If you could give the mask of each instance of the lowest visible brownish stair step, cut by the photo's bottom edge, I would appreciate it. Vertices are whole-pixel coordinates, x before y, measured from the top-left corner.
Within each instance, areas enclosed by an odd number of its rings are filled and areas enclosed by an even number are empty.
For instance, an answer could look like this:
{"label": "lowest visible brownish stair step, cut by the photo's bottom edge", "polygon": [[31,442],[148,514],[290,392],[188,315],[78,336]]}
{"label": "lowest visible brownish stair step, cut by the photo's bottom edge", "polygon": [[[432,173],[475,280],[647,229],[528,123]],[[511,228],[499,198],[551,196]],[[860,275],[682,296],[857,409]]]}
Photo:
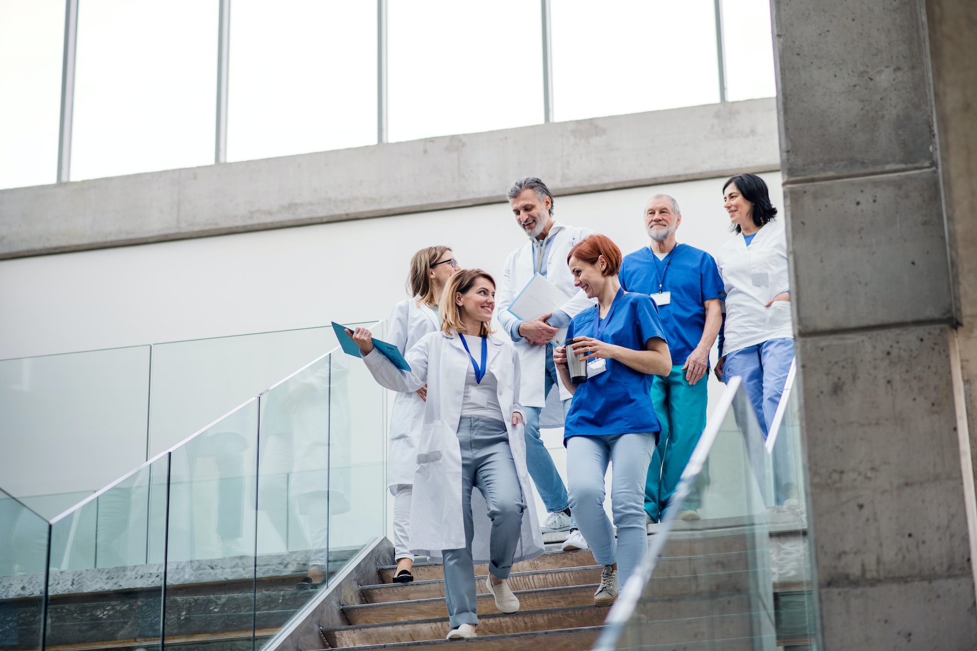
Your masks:
{"label": "lowest visible brownish stair step, cut by the photo's bottom edge", "polygon": [[[482,629],[481,625],[479,629]],[[540,649],[545,649],[545,651],[587,651],[593,648],[601,630],[601,627],[577,627],[559,630],[533,630],[507,635],[488,635],[485,633],[469,639],[446,640],[442,638],[419,642],[370,644],[341,647],[331,651],[379,651],[380,649],[414,651],[414,649],[433,648],[445,649],[445,651],[449,649],[464,649],[464,651],[539,651]],[[479,630],[479,632],[483,631]],[[739,651],[739,649],[735,651]]]}

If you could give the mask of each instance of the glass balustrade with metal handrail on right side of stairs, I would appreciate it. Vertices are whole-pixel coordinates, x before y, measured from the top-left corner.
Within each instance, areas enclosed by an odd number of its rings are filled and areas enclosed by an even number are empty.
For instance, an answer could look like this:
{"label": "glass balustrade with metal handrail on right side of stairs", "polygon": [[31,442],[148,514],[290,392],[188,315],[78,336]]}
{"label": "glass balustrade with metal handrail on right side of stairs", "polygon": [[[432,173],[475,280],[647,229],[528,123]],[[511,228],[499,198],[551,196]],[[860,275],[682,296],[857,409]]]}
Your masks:
{"label": "glass balustrade with metal handrail on right side of stairs", "polygon": [[[800,450],[796,401],[788,388],[771,452]],[[767,456],[734,378],[595,649],[818,648],[804,493],[770,505]],[[790,461],[803,477],[800,457]]]}

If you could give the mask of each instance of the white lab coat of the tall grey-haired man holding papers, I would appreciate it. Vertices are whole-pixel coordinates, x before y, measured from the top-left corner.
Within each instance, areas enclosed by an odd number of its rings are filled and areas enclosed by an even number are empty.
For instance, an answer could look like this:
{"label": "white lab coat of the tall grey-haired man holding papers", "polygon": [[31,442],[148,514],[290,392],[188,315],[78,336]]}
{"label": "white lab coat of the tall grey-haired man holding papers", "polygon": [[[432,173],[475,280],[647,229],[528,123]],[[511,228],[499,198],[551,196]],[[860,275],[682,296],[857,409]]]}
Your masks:
{"label": "white lab coat of the tall grey-haired man holding papers", "polygon": [[[573,318],[576,313],[591,307],[594,301],[587,298],[583,290],[573,286],[573,274],[570,273],[570,267],[567,266],[567,254],[573,248],[573,244],[593,234],[593,231],[564,226],[560,222],[554,221],[550,234],[554,240],[550,245],[549,256],[546,258],[546,279],[567,295],[567,302],[561,309]],[[509,306],[512,305],[513,299],[519,295],[526,283],[530,282],[534,274],[532,241],[527,241],[506,258],[505,268],[502,270],[502,283],[495,296],[495,303],[498,305],[496,316],[499,324],[505,330],[502,333],[503,336],[508,337],[509,327],[518,321],[516,316],[509,312]],[[527,407],[543,407],[546,402],[546,397],[543,395],[546,347],[532,346],[525,338],[515,342],[515,346],[519,352],[519,361],[522,363],[523,370],[520,400]],[[568,400],[572,395],[570,391],[563,385],[563,382],[556,384],[560,389],[560,400]]]}

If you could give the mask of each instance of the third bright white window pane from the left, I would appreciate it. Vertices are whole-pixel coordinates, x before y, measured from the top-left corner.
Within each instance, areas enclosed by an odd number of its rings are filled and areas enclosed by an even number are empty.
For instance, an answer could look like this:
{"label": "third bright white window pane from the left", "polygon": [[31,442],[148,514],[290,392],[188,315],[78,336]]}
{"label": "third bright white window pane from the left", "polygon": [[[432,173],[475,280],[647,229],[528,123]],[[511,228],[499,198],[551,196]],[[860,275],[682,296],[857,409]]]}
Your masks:
{"label": "third bright white window pane from the left", "polygon": [[376,3],[234,0],[228,160],[376,143]]}

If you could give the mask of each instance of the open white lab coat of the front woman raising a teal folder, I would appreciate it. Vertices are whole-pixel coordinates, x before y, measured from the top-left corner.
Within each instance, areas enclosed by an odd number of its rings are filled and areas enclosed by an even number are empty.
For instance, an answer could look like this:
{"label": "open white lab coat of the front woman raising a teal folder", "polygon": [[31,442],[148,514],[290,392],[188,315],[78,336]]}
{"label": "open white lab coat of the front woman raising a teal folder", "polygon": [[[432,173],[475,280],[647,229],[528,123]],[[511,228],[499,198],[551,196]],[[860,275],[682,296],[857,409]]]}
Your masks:
{"label": "open white lab coat of the front woman raising a teal folder", "polygon": [[[458,421],[471,360],[458,335],[444,331],[425,335],[404,357],[410,371],[397,369],[375,349],[363,357],[363,362],[377,382],[393,391],[416,391],[428,385],[424,424],[416,439],[417,471],[413,479],[409,539],[411,552],[440,559],[443,549],[465,546]],[[543,540],[530,473],[526,469],[525,426],[512,424],[513,412],[523,413],[519,404],[519,356],[512,342],[489,335],[487,364],[488,372],[498,381],[498,403],[526,503],[520,542],[513,558],[513,562],[519,562],[541,554]],[[472,555],[475,563],[487,563],[491,521],[485,498],[478,490],[472,491],[472,520],[475,527]]]}

